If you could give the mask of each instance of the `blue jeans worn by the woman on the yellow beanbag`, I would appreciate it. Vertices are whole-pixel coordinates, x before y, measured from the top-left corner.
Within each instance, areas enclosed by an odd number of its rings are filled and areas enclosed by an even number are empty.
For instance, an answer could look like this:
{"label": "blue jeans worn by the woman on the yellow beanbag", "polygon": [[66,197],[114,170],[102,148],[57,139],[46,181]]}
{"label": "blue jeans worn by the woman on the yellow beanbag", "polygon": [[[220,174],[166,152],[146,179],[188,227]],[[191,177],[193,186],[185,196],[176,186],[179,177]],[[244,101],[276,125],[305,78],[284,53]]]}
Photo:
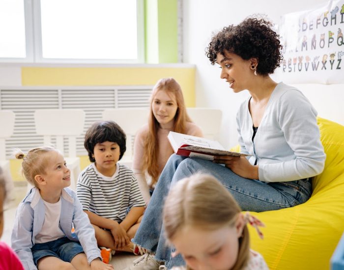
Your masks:
{"label": "blue jeans worn by the woman on the yellow beanbag", "polygon": [[185,263],[180,255],[172,258],[173,247],[166,243],[162,222],[164,199],[176,181],[197,172],[215,176],[231,192],[243,211],[262,212],[292,207],[307,201],[312,193],[309,180],[264,183],[242,178],[229,168],[211,161],[173,154],[160,175],[133,239],[133,243],[154,252],[157,261],[165,261],[168,269]]}

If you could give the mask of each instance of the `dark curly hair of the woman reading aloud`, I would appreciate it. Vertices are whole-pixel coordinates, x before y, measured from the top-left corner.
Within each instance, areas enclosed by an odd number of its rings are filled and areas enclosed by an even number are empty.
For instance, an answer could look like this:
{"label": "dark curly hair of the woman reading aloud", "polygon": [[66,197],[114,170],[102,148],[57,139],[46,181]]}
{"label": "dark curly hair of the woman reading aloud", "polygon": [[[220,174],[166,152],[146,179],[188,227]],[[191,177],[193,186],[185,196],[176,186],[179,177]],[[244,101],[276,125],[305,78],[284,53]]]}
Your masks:
{"label": "dark curly hair of the woman reading aloud", "polygon": [[279,35],[271,29],[272,23],[262,18],[246,18],[237,26],[224,27],[214,35],[205,49],[212,65],[218,53],[225,51],[239,55],[244,60],[258,58],[257,73],[271,74],[283,59]]}

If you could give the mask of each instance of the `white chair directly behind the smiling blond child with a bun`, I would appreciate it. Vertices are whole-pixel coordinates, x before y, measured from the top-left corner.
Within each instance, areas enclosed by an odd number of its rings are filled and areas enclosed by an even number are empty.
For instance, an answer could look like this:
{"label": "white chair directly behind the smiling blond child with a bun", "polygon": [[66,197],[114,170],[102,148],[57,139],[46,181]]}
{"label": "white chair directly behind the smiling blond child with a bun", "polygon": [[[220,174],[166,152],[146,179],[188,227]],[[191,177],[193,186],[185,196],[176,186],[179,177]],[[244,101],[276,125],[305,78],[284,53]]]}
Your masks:
{"label": "white chair directly behind the smiling blond child with a bun", "polygon": [[76,189],[80,173],[80,158],[76,152],[76,137],[84,131],[85,112],[82,109],[37,109],[34,112],[36,133],[44,136],[44,144],[51,144],[52,136],[56,137],[56,148],[64,156],[63,137],[68,138],[68,154],[65,157],[71,171],[71,189]]}

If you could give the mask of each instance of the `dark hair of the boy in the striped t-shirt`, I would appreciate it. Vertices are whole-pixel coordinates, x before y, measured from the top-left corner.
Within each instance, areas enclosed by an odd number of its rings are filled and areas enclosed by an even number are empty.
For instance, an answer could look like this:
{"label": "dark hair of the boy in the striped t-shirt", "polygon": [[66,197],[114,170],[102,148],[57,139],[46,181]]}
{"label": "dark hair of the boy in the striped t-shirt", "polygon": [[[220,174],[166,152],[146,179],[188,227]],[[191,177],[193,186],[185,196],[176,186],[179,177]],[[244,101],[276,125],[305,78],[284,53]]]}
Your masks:
{"label": "dark hair of the boy in the striped t-shirt", "polygon": [[92,157],[94,154],[94,146],[97,143],[104,141],[115,142],[119,146],[119,160],[123,157],[126,148],[125,141],[126,135],[124,131],[114,121],[95,122],[87,130],[85,135],[84,146],[88,152],[88,158],[90,162],[95,162]]}

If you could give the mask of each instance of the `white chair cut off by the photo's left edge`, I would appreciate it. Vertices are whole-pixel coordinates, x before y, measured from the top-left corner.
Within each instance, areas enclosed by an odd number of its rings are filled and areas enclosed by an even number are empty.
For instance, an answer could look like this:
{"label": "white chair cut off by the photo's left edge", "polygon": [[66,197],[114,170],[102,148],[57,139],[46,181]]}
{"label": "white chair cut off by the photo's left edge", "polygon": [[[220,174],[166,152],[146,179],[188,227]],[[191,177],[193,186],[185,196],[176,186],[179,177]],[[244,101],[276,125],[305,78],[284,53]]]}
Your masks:
{"label": "white chair cut off by the photo's left edge", "polygon": [[[14,184],[12,181],[10,163],[6,160],[6,146],[5,139],[13,135],[14,131],[15,114],[11,110],[0,110],[0,167],[2,168],[3,175],[5,177],[5,189],[6,189],[6,205],[4,208],[8,208],[10,203],[14,201]],[[7,205],[8,202],[8,205]]]}

